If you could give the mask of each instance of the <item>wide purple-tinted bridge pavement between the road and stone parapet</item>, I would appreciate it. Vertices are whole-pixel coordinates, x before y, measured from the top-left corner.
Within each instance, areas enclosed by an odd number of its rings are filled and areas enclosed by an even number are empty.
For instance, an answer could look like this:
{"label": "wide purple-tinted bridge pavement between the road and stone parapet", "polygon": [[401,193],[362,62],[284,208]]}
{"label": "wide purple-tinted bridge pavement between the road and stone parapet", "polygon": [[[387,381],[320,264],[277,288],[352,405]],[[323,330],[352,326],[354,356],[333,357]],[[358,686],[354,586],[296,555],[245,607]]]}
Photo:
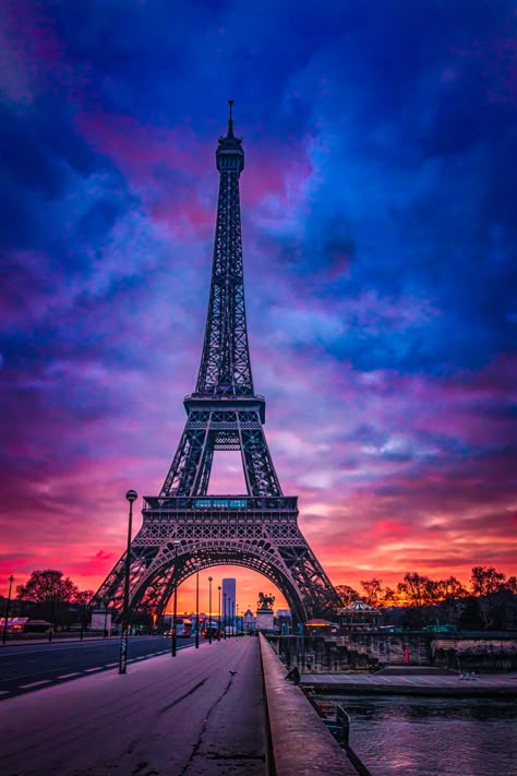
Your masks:
{"label": "wide purple-tinted bridge pavement between the road and stone parapet", "polygon": [[265,775],[257,638],[204,643],[3,701],[5,776]]}

